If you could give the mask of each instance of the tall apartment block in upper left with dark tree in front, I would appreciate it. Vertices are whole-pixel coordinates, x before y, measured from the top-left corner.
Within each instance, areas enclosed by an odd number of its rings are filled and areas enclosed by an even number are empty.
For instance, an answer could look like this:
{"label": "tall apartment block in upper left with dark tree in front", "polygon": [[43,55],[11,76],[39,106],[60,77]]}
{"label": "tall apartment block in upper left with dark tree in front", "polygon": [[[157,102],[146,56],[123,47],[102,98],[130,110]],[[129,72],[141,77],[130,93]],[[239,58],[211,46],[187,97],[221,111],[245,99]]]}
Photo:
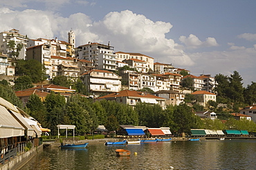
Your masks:
{"label": "tall apartment block in upper left with dark tree in front", "polygon": [[19,34],[19,30],[0,32],[0,52],[12,59],[25,59],[27,43],[27,36]]}

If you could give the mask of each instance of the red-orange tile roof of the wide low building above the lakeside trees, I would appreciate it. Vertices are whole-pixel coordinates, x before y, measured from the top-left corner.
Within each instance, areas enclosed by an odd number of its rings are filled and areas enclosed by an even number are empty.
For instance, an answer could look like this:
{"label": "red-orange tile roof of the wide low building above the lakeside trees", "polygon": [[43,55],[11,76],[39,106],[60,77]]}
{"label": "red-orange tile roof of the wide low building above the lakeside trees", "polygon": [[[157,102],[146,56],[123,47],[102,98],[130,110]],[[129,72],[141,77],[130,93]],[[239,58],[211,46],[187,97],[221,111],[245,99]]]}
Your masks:
{"label": "red-orange tile roof of the wide low building above the lakeside trees", "polygon": [[144,94],[143,92],[131,91],[129,89],[122,90],[113,94],[107,94],[106,96],[101,96],[99,98],[116,98],[116,97],[138,97],[138,98],[156,98],[165,99],[152,94]]}

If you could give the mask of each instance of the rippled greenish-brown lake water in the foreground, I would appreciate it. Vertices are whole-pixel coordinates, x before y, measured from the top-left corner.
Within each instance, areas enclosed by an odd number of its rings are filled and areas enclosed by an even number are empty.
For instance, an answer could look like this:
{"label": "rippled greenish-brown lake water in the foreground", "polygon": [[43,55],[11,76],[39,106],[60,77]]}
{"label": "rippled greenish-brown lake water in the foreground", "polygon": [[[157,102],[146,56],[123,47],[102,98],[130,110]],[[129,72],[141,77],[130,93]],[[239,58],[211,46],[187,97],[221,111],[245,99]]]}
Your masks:
{"label": "rippled greenish-brown lake water in the foreground", "polygon": [[[116,149],[129,157],[117,157]],[[134,153],[137,153],[136,154]],[[203,140],[105,146],[87,149],[46,148],[27,169],[256,169],[256,140]]]}

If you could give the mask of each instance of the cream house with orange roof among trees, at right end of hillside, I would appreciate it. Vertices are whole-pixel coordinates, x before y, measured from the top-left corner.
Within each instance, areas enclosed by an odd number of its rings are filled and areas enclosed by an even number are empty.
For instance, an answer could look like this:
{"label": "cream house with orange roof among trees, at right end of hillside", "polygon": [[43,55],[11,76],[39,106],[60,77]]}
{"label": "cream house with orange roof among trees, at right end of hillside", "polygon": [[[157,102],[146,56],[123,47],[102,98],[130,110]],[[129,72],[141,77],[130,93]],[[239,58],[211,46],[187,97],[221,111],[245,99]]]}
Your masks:
{"label": "cream house with orange roof among trees, at right end of hillside", "polygon": [[202,90],[193,92],[192,94],[196,96],[196,101],[199,103],[199,105],[202,105],[203,107],[206,107],[206,104],[209,100],[216,102],[216,94],[212,94],[211,92],[206,92]]}

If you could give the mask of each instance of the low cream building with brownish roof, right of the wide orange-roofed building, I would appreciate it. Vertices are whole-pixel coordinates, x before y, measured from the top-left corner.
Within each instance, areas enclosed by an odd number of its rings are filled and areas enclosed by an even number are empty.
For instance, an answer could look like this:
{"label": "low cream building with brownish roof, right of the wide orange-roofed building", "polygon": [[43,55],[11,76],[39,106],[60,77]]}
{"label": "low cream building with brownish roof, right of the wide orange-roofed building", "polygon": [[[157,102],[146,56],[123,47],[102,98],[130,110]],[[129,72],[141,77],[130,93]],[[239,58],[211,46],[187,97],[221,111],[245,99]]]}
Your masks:
{"label": "low cream building with brownish roof, right of the wide orange-roofed building", "polygon": [[160,90],[155,94],[158,97],[166,98],[166,105],[179,105],[185,98],[185,94],[173,90]]}

